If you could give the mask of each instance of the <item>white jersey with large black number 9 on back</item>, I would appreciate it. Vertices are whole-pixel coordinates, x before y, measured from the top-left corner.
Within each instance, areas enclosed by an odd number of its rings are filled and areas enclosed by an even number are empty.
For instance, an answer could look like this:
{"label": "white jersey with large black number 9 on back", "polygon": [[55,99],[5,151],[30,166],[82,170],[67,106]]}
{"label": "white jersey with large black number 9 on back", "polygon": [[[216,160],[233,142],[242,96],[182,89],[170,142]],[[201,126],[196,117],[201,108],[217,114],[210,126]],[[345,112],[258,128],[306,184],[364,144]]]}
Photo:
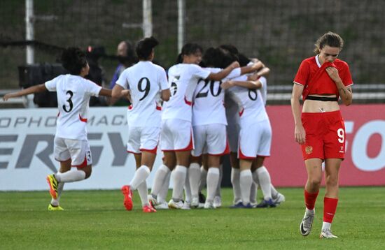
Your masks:
{"label": "white jersey with large black number 9 on back", "polygon": [[129,126],[161,126],[160,91],[169,88],[164,68],[151,61],[139,61],[126,68],[116,84],[130,89],[132,105],[127,110]]}

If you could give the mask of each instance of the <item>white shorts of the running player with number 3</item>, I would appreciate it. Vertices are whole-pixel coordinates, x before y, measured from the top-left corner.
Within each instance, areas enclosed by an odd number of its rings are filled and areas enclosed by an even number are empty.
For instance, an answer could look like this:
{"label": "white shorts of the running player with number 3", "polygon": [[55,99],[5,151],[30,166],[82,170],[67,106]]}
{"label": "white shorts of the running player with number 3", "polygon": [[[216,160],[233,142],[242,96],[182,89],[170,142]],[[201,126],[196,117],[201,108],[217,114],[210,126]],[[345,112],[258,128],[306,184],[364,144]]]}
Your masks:
{"label": "white shorts of the running player with number 3", "polygon": [[71,166],[84,168],[92,165],[90,145],[87,140],[72,140],[55,137],[53,150],[56,161],[68,161]]}

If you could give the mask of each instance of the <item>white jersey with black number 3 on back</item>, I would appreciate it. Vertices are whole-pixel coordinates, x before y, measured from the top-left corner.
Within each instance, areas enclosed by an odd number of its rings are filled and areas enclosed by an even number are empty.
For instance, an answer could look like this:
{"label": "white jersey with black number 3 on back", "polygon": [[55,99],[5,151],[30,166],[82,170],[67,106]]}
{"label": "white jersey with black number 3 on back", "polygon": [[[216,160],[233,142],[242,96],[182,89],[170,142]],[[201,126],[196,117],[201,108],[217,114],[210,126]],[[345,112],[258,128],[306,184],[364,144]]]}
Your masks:
{"label": "white jersey with black number 3 on back", "polygon": [[57,92],[56,136],[72,140],[87,140],[87,114],[91,96],[98,96],[99,85],[80,75],[59,75],[45,87]]}

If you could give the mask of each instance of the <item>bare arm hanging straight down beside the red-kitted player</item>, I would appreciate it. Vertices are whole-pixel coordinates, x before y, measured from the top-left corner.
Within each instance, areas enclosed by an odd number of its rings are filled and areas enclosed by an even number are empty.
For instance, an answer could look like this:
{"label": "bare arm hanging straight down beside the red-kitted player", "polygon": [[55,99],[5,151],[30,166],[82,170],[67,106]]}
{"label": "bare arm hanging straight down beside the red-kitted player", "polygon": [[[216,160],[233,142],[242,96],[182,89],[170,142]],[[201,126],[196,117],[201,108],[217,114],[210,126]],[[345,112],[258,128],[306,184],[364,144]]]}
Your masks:
{"label": "bare arm hanging straight down beside the red-kitted player", "polygon": [[290,98],[291,111],[293,112],[294,124],[295,124],[295,130],[294,130],[295,141],[300,143],[301,145],[304,144],[305,138],[306,138],[306,133],[302,125],[301,110],[300,110],[300,96],[302,95],[303,89],[304,89],[303,85],[295,83],[293,86],[293,91],[291,93],[291,98]]}

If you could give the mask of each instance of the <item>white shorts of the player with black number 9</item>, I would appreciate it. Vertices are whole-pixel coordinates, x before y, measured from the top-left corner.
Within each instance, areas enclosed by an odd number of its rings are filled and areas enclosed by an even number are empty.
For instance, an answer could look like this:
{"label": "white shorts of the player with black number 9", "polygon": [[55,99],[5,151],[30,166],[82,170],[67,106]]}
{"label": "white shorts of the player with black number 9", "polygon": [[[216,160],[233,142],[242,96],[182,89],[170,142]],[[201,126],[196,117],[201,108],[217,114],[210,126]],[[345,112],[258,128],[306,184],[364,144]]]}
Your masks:
{"label": "white shorts of the player with black number 9", "polygon": [[160,128],[155,126],[130,126],[128,128],[127,152],[141,154],[146,151],[156,154]]}

